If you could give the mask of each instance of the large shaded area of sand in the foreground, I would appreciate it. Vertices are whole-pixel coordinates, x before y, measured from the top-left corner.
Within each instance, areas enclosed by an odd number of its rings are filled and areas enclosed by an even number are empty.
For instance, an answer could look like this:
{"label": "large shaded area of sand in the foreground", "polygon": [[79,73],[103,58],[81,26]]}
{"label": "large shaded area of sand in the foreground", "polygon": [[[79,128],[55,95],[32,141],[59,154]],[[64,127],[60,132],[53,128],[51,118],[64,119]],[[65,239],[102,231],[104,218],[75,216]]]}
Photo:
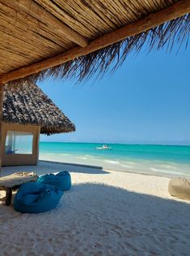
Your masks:
{"label": "large shaded area of sand in the foreground", "polygon": [[[187,202],[89,183],[73,185],[57,208],[44,214],[22,215],[12,206],[0,206],[3,236],[10,241],[14,237],[6,249],[24,249],[37,237],[44,248],[63,248],[65,254],[73,255],[188,256],[189,217]],[[9,232],[9,225],[12,230],[19,227],[16,236]],[[22,242],[20,236],[24,236]],[[40,246],[36,246],[38,253]]]}

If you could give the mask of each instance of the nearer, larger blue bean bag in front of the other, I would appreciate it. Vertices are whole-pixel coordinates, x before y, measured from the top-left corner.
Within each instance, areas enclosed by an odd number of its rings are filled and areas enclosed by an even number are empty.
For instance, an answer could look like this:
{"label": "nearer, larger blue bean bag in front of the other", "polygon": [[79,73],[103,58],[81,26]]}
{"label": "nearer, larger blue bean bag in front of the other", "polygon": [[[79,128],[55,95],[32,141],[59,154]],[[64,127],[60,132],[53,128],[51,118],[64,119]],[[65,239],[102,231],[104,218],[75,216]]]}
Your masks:
{"label": "nearer, larger blue bean bag in front of the other", "polygon": [[16,193],[13,206],[23,213],[40,213],[57,206],[63,192],[61,189],[40,182],[27,182]]}

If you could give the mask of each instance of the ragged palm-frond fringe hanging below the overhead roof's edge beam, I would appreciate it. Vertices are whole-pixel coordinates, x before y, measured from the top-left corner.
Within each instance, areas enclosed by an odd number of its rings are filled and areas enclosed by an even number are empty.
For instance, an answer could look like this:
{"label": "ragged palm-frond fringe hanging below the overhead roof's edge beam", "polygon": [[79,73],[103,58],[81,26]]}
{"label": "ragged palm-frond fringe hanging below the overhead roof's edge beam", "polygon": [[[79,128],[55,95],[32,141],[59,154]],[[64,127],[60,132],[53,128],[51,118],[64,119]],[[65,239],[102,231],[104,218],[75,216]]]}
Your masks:
{"label": "ragged palm-frond fringe hanging below the overhead roof's edge beam", "polygon": [[[190,33],[190,15],[185,15],[178,19],[172,20],[167,24],[160,25],[156,28],[128,37],[123,41],[116,42],[111,46],[101,50],[83,55],[76,59],[70,60],[62,65],[50,67],[42,72],[26,76],[17,80],[18,84],[29,80],[36,83],[37,80],[53,76],[56,78],[76,78],[78,82],[87,80],[91,76],[101,77],[108,70],[115,72],[126,60],[130,53],[138,54],[142,47],[146,50],[172,50],[175,44],[179,45],[178,50],[184,43],[188,46]],[[15,85],[15,81],[9,82],[9,85]]]}

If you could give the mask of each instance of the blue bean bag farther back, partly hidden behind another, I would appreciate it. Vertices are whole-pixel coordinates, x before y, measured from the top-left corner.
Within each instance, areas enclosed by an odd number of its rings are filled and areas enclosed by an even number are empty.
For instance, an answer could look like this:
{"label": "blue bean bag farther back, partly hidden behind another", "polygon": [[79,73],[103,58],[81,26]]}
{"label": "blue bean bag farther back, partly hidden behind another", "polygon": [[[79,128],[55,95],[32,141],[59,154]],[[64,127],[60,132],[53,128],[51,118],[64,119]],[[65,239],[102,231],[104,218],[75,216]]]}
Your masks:
{"label": "blue bean bag farther back, partly hidden behind another", "polygon": [[50,173],[40,176],[37,181],[45,184],[52,184],[63,191],[70,190],[71,187],[71,177],[68,171],[61,171],[57,173],[57,175]]}

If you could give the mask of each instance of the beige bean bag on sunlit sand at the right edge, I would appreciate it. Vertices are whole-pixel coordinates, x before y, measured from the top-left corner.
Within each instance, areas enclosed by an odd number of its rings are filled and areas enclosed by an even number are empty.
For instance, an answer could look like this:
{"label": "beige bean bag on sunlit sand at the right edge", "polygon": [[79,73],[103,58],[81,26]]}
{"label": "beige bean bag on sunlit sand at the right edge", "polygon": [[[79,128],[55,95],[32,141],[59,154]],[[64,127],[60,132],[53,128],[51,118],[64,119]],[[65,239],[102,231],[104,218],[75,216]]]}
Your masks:
{"label": "beige bean bag on sunlit sand at the right edge", "polygon": [[168,184],[168,192],[173,197],[190,200],[190,180],[185,178],[172,178]]}

